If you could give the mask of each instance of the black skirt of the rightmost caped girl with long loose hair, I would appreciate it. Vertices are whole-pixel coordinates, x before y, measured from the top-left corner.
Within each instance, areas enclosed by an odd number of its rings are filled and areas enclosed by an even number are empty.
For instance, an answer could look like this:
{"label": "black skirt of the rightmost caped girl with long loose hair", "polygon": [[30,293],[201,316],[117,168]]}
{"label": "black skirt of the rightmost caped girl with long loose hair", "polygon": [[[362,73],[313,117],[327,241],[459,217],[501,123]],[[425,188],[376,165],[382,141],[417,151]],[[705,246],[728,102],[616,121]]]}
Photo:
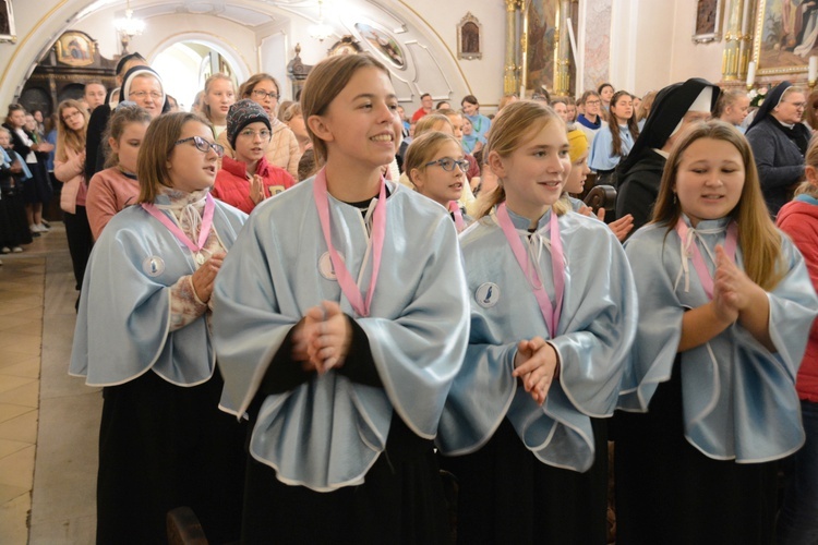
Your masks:
{"label": "black skirt of the rightmost caped girl with long loose hair", "polygon": [[771,544],[778,462],[713,460],[684,436],[679,359],[645,414],[615,416],[616,543]]}

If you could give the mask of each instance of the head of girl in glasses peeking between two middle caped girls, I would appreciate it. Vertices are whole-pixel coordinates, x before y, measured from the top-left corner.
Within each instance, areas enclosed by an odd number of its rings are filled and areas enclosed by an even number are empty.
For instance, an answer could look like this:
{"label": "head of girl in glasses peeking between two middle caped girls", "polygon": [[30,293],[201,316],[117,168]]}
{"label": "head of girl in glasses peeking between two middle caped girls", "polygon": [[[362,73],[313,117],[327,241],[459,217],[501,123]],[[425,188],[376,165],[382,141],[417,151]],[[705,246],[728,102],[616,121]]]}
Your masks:
{"label": "head of girl in glasses peeking between two middle caped girls", "polygon": [[456,137],[437,131],[422,134],[407,149],[404,169],[418,193],[449,211],[458,232],[466,229],[471,218],[459,201],[468,184],[469,161]]}

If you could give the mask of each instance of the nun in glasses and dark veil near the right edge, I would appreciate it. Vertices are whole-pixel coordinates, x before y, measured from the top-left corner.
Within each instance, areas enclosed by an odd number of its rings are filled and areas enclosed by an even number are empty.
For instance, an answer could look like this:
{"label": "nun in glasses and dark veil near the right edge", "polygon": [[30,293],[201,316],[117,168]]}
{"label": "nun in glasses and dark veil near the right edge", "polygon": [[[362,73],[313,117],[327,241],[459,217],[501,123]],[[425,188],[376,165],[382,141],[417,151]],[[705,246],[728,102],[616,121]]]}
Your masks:
{"label": "nun in glasses and dark veil near the right edge", "polygon": [[747,129],[767,208],[774,218],[804,178],[810,132],[801,122],[807,99],[801,87],[782,82],[765,99]]}

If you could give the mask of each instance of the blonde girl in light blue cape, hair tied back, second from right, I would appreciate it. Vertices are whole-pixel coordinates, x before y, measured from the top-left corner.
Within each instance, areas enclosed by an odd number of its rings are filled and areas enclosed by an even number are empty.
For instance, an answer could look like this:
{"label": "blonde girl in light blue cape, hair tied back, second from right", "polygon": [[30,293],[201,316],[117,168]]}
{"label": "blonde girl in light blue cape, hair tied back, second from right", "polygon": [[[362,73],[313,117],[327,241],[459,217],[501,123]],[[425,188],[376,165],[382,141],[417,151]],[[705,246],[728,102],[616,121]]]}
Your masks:
{"label": "blonde girl in light blue cape, hair tied back, second from right", "polygon": [[570,158],[551,108],[506,106],[486,150],[500,186],[460,235],[471,332],[438,436],[458,541],[604,543],[603,419],[636,331],[630,268],[604,223],[560,198]]}

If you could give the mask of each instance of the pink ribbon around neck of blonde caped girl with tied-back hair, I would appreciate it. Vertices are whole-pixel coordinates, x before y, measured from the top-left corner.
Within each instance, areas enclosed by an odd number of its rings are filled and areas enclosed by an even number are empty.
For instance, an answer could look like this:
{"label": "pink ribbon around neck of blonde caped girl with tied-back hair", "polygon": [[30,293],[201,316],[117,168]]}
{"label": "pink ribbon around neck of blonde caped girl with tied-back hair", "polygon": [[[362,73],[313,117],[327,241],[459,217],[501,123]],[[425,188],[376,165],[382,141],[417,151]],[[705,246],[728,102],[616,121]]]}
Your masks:
{"label": "pink ribbon around neck of blonde caped girl with tied-back hair", "polygon": [[556,337],[556,328],[560,325],[560,314],[563,308],[563,293],[565,292],[565,255],[563,253],[563,242],[560,240],[560,225],[557,222],[556,213],[551,210],[551,268],[554,275],[554,300],[556,306],[552,306],[551,299],[549,298],[545,288],[542,284],[542,279],[537,272],[537,269],[531,266],[531,262],[528,258],[528,252],[526,251],[520,235],[515,229],[512,218],[508,217],[508,210],[506,204],[502,203],[497,206],[497,221],[500,227],[503,228],[503,233],[506,235],[508,244],[512,246],[512,252],[517,258],[517,263],[520,265],[522,272],[528,279],[528,283],[531,286],[531,290],[534,292],[534,298],[540,304],[540,311],[542,317],[545,318],[545,325],[549,327],[551,338]]}

